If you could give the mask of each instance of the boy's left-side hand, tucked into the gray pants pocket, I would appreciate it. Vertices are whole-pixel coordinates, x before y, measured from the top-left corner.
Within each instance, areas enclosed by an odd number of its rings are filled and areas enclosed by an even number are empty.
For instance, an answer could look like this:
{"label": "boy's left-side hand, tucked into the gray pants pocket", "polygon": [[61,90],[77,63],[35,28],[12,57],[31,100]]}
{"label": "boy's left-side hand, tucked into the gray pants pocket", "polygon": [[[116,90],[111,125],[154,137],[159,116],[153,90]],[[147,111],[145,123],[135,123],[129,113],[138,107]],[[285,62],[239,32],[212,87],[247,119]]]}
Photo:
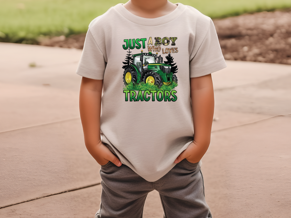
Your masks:
{"label": "boy's left-side hand, tucked into the gray pants pocket", "polygon": [[111,161],[116,166],[121,166],[120,160],[102,143],[102,141],[94,147],[90,146],[88,151],[100,165],[105,165]]}

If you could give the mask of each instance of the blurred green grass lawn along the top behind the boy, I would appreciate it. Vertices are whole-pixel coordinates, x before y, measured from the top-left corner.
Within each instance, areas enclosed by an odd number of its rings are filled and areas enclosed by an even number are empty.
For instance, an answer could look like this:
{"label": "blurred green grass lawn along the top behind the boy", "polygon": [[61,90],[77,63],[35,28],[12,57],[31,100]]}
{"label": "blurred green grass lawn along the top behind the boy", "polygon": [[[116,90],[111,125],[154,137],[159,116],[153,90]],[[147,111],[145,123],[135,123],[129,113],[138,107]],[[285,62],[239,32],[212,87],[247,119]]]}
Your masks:
{"label": "blurred green grass lawn along the top behind the boy", "polygon": [[[40,35],[84,33],[118,0],[0,0],[0,41],[36,43]],[[172,1],[175,3],[175,1]],[[211,18],[291,8],[291,0],[181,0]]]}

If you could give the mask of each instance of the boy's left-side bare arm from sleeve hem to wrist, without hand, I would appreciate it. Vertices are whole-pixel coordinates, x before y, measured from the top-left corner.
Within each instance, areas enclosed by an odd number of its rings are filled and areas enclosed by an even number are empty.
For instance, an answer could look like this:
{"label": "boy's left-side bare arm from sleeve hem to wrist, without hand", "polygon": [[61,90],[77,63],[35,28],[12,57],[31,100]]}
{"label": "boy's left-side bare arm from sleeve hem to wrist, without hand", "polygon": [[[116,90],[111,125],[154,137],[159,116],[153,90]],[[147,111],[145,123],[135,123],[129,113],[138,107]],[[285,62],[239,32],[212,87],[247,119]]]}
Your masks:
{"label": "boy's left-side bare arm from sleeve hem to wrist, without hand", "polygon": [[94,83],[92,83],[88,78],[82,78],[79,109],[85,145],[89,152],[91,146],[101,143],[100,113],[102,86],[103,80],[94,81]]}

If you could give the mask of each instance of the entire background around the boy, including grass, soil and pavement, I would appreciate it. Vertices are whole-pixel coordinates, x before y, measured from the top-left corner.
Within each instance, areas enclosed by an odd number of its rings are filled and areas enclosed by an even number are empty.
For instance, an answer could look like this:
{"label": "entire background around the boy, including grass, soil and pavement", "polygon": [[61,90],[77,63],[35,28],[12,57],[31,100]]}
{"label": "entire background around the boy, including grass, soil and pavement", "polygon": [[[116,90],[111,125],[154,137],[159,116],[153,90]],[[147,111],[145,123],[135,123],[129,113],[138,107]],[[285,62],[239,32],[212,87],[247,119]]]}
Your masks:
{"label": "entire background around the boy, including grass, soil and pavement", "polygon": [[[228,65],[212,74],[201,168],[213,217],[290,217],[291,1],[180,2],[213,19]],[[118,3],[0,0],[0,218],[99,209],[100,165],[84,145],[75,72],[89,23]],[[157,192],[143,217],[163,217]]]}

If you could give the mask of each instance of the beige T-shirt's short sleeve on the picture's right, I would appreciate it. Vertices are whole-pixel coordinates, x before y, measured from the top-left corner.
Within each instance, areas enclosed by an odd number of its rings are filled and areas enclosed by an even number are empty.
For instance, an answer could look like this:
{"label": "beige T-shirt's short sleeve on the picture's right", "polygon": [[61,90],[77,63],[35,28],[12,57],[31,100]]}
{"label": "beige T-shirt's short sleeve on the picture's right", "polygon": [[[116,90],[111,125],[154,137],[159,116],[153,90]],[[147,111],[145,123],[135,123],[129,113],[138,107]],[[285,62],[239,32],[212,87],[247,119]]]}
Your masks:
{"label": "beige T-shirt's short sleeve on the picture's right", "polygon": [[225,67],[227,65],[221,52],[217,33],[210,19],[210,26],[202,43],[194,42],[189,63],[190,77],[204,76]]}

